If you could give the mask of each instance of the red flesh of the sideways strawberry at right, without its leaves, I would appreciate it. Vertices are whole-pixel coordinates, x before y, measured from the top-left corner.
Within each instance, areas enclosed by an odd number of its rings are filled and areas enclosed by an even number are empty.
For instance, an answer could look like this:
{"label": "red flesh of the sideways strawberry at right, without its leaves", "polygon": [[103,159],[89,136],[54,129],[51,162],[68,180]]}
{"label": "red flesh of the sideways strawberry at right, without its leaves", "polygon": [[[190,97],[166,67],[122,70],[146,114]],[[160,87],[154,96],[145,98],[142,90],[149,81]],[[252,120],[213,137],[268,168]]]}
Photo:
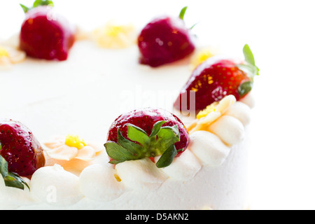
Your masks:
{"label": "red flesh of the sideways strawberry at right, without its leaves", "polygon": [[[202,69],[200,69],[202,68]],[[195,92],[196,112],[205,109],[214,102],[218,102],[226,95],[232,94],[239,100],[238,87],[241,83],[250,80],[244,71],[241,71],[235,62],[222,59],[214,64],[204,62],[193,71],[188,82],[181,90],[174,106],[178,110],[190,109],[194,102],[190,102],[190,91]],[[183,97],[185,94],[185,97]],[[186,99],[181,102],[182,98]]]}

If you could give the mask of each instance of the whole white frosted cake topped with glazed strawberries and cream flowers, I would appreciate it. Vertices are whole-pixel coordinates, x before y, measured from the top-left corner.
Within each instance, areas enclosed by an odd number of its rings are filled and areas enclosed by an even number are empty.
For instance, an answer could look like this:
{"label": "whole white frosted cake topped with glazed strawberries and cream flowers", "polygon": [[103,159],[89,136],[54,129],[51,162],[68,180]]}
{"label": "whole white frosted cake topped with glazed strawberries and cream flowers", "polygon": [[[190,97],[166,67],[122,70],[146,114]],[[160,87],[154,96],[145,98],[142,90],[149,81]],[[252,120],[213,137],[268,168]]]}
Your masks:
{"label": "whole white frosted cake topped with glazed strawberries and cream flowers", "polygon": [[[48,7],[24,6],[25,23]],[[183,28],[185,10],[179,22],[158,18],[141,32],[109,22],[85,33],[67,24],[62,54],[30,53],[29,27],[0,44],[0,209],[248,209],[248,73],[258,69],[248,45],[245,62],[200,54]],[[154,41],[173,46],[173,57],[144,49],[155,26],[182,31],[185,50],[176,39],[163,42],[167,31]],[[215,99],[205,102],[200,74],[230,62],[239,63],[228,66],[233,77],[245,78],[230,92],[214,87]],[[207,77],[211,87],[216,73]],[[36,161],[23,167],[30,155]]]}

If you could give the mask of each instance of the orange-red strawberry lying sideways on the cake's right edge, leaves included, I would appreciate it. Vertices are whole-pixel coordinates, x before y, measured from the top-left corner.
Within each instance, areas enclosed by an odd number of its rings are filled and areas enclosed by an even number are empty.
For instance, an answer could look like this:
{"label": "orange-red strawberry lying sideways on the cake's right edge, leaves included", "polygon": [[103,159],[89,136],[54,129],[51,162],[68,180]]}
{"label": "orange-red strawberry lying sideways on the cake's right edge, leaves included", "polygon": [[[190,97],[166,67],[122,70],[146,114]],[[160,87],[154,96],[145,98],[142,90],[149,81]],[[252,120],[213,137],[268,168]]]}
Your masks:
{"label": "orange-red strawberry lying sideways on the cake's right edge, leaves included", "polygon": [[[231,59],[211,57],[193,71],[188,83],[176,99],[175,108],[186,111],[195,108],[195,112],[205,109],[232,94],[237,100],[251,91],[253,76],[258,75],[253,53],[248,45],[243,49],[245,62],[237,63]],[[195,97],[190,96],[194,93]],[[194,99],[195,102],[190,102]]]}

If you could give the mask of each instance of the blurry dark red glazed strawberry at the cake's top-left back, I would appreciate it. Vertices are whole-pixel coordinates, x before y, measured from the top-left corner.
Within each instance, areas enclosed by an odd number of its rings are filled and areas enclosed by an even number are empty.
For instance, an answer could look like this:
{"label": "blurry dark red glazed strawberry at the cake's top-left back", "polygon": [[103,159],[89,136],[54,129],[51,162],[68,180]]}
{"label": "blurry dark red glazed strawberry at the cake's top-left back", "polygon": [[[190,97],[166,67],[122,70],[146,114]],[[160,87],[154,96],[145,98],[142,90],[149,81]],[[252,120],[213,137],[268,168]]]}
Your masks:
{"label": "blurry dark red glazed strawberry at the cake's top-left back", "polygon": [[63,61],[75,41],[75,29],[52,6],[52,1],[45,0],[35,1],[33,8],[22,6],[26,14],[20,31],[20,49],[29,57]]}

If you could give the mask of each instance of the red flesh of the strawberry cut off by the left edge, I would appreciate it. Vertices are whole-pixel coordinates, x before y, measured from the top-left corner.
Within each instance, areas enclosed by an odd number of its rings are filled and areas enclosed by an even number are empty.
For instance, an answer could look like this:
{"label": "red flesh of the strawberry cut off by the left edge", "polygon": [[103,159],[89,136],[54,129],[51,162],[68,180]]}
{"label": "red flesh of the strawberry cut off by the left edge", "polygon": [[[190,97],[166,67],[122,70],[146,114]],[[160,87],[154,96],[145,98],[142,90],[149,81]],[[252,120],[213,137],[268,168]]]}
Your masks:
{"label": "red flesh of the strawberry cut off by the left edge", "polygon": [[41,145],[22,123],[0,121],[0,144],[0,155],[8,162],[9,172],[30,176],[45,165]]}

